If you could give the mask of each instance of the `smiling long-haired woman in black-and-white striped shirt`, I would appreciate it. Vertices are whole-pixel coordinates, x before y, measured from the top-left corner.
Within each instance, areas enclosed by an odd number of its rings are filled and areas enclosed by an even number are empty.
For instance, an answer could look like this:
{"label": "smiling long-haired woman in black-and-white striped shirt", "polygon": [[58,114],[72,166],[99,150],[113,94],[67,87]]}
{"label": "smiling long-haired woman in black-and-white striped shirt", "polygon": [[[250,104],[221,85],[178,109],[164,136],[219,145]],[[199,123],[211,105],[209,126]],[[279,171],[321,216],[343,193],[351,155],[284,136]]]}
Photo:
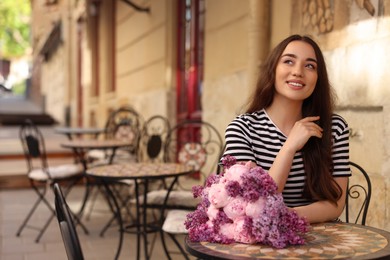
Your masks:
{"label": "smiling long-haired woman in black-and-white striped shirt", "polygon": [[271,52],[246,113],[225,133],[225,155],[267,170],[286,205],[310,223],[340,216],[351,175],[348,125],[333,107],[319,46],[292,35]]}

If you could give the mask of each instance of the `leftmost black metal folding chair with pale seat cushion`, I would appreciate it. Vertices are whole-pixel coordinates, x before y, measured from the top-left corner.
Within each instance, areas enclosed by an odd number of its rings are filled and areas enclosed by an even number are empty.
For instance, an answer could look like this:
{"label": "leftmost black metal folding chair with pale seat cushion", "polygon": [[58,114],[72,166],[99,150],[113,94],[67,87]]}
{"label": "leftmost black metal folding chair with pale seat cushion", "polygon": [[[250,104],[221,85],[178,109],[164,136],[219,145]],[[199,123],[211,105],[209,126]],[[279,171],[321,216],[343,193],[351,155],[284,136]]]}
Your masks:
{"label": "leftmost black metal folding chair with pale seat cushion", "polygon": [[[31,120],[26,120],[21,126],[19,136],[28,167],[27,177],[30,181],[31,188],[38,195],[38,198],[19,227],[16,235],[20,236],[25,227],[39,229],[36,225],[29,225],[29,222],[38,206],[43,203],[50,210],[50,214],[46,223],[40,228],[40,232],[35,240],[39,242],[55,216],[54,208],[46,198],[48,188],[52,188],[55,182],[60,182],[66,185],[65,194],[68,194],[71,188],[84,178],[84,168],[81,164],[49,166],[45,140],[39,128]],[[87,229],[83,225],[81,226],[88,233]]]}

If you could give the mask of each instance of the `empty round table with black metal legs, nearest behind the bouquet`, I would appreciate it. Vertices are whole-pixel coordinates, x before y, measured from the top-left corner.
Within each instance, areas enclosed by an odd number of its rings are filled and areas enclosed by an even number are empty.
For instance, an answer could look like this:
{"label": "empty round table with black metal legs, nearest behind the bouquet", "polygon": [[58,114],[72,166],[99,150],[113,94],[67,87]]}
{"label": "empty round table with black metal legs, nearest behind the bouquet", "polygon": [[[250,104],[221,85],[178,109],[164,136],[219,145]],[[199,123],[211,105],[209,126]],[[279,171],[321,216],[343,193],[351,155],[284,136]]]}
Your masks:
{"label": "empty round table with black metal legs, nearest behind the bouquet", "polygon": [[[164,210],[161,210],[160,212],[161,215],[158,223],[148,222],[147,214],[144,213],[146,213],[147,210],[149,182],[152,180],[172,178],[167,193],[167,196],[169,196],[169,192],[176,183],[177,178],[191,173],[193,173],[192,167],[178,163],[121,163],[93,167],[87,170],[88,176],[96,178],[104,183],[107,193],[115,205],[115,216],[120,226],[119,244],[115,259],[119,258],[124,233],[135,233],[137,235],[137,259],[141,259],[141,244],[144,249],[144,256],[142,259],[150,258],[147,235],[148,233],[159,232],[161,230]],[[133,180],[135,184],[134,197],[136,199],[136,219],[135,223],[130,226],[124,226],[121,215],[121,205],[119,205],[110,185],[113,181],[118,182],[121,180]],[[142,185],[142,189],[140,185]],[[141,195],[143,195],[142,203],[139,201]],[[141,239],[143,241],[141,241]]]}

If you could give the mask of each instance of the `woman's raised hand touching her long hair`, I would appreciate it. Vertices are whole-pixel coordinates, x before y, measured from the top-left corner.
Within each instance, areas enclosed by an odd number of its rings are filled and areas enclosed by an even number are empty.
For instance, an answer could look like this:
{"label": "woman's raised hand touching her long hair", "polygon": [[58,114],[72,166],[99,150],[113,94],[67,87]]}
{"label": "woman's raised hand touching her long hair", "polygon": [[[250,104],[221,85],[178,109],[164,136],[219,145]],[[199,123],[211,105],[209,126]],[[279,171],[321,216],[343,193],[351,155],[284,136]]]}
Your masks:
{"label": "woman's raised hand touching her long hair", "polygon": [[285,148],[296,152],[303,148],[310,137],[322,138],[323,130],[315,123],[319,119],[319,116],[309,116],[295,122],[284,144]]}

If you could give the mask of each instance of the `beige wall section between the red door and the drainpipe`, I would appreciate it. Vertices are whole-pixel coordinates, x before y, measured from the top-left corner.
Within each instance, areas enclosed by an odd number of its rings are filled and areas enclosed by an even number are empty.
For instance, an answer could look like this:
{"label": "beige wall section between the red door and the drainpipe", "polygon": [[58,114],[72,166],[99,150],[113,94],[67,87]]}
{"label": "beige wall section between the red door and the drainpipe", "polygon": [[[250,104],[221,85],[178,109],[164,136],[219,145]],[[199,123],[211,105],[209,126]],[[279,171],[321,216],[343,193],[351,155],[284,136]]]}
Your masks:
{"label": "beige wall section between the red door and the drainpipe", "polygon": [[206,2],[203,119],[221,133],[248,94],[249,2]]}

